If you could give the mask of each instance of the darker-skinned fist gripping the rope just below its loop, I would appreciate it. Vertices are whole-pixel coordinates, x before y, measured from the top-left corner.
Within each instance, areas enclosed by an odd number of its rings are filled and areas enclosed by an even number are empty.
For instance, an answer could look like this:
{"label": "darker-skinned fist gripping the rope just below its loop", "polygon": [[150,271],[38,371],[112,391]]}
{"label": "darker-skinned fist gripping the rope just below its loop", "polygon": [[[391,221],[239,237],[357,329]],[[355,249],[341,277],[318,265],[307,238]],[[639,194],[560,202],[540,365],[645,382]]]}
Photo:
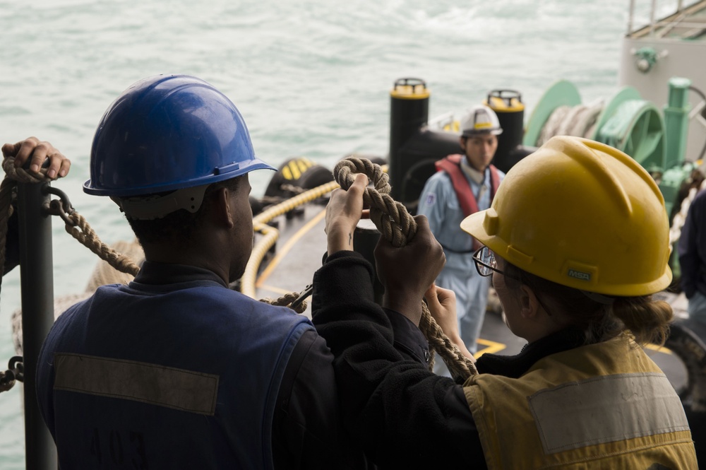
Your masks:
{"label": "darker-skinned fist gripping the rope just below its loop", "polygon": [[380,237],[375,247],[378,279],[385,286],[383,306],[419,326],[424,293],[441,272],[446,258],[426,216],[417,216],[417,233],[404,247]]}

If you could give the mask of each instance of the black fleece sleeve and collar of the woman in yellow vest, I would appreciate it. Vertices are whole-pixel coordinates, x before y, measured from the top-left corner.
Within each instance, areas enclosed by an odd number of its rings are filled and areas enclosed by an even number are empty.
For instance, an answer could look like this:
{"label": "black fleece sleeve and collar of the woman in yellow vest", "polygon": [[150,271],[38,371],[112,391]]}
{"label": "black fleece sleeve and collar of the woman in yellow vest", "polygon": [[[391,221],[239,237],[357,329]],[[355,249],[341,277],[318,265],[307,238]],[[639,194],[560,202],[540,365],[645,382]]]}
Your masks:
{"label": "black fleece sleeve and collar of the woman in yellow vest", "polygon": [[[314,274],[313,323],[335,356],[347,430],[382,468],[487,468],[463,387],[429,372],[421,331],[376,305],[372,279],[371,264],[355,252],[333,254]],[[516,356],[485,354],[476,366],[517,378],[583,341],[580,329],[568,328]]]}

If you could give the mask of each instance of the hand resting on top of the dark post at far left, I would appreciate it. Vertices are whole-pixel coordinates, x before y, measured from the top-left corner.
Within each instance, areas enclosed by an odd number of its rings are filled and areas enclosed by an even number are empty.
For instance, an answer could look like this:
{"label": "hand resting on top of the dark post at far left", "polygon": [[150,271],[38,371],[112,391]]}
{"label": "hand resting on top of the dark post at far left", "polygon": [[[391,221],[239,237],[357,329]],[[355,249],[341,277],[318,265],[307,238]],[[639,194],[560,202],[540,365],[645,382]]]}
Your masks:
{"label": "hand resting on top of the dark post at far left", "polygon": [[71,161],[68,160],[51,143],[40,141],[36,137],[29,137],[18,143],[6,143],[2,146],[4,158],[15,158],[15,168],[20,168],[27,160],[30,160],[30,171],[40,173],[44,160],[49,159],[47,167],[47,177],[50,180],[68,175],[71,168]]}

